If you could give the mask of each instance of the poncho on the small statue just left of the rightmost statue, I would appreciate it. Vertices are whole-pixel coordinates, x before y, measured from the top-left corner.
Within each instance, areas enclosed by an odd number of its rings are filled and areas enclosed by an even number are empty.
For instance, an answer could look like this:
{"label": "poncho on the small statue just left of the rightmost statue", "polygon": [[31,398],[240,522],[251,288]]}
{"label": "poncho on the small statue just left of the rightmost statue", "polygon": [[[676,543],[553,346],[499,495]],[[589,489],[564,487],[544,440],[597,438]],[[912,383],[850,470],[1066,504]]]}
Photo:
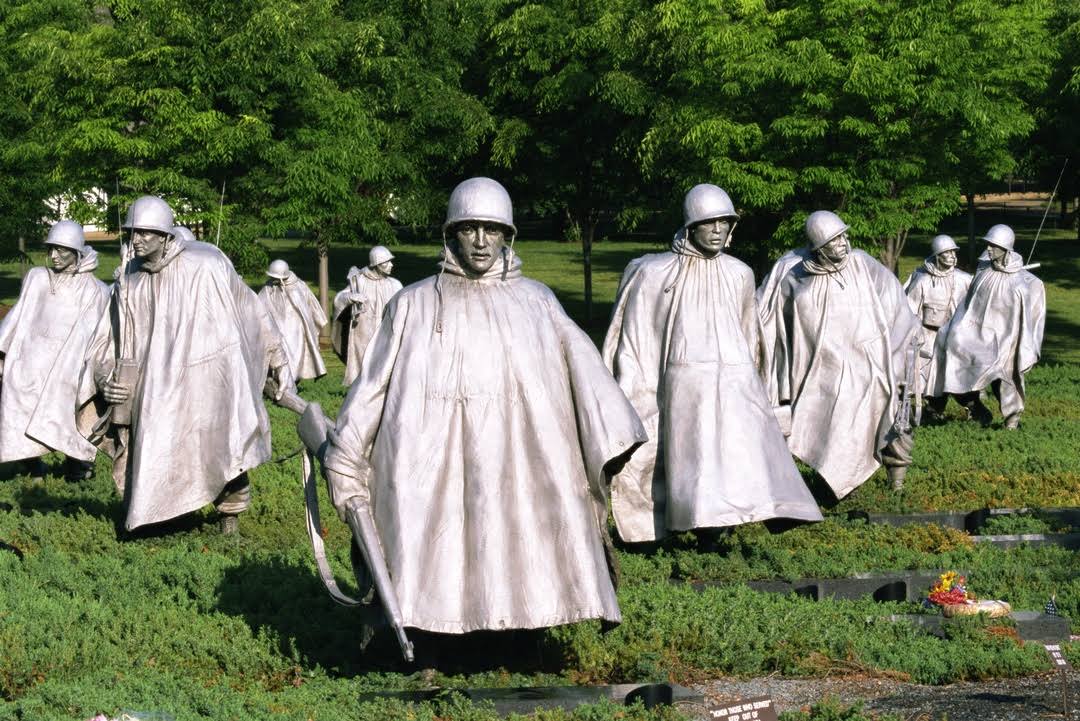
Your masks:
{"label": "poncho on the small statue just left of the rightmost statue", "polygon": [[957,268],[941,270],[933,256],[927,258],[921,268],[915,269],[904,284],[912,312],[922,322],[919,367],[924,395],[932,395],[937,382],[937,364],[934,362],[937,331],[953,317],[970,285],[971,273]]}

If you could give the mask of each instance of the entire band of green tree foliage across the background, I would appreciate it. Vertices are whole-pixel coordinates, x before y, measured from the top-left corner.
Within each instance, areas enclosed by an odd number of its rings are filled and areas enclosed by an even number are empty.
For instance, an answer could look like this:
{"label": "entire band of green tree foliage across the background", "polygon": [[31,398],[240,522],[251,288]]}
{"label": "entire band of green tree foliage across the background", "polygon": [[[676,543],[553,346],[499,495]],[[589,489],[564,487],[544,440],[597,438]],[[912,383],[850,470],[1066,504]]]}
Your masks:
{"label": "entire band of green tree foliage across the background", "polygon": [[1017,162],[1075,155],[1078,27],[1066,0],[12,0],[2,242],[51,198],[113,223],[152,192],[254,264],[260,235],[428,227],[487,173],[584,243],[712,181],[747,253],[825,207],[893,263]]}

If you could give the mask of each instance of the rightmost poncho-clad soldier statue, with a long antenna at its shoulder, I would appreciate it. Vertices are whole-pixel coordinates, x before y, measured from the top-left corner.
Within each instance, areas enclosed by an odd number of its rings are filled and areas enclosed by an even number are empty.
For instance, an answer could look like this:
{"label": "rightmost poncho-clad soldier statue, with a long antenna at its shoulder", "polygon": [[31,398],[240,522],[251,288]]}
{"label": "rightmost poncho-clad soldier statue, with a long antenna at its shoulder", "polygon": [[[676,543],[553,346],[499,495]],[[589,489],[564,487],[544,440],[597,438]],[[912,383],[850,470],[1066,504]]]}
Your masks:
{"label": "rightmost poncho-clad soldier statue, with a long antenna at its shoulder", "polygon": [[[937,339],[937,393],[977,394],[989,387],[1001,404],[1004,427],[1020,426],[1024,412],[1024,376],[1039,359],[1047,323],[1042,281],[1025,270],[1013,250],[1008,226],[994,226],[983,237],[985,260],[978,263],[968,296]],[[989,410],[972,397],[975,419],[988,423]]]}

